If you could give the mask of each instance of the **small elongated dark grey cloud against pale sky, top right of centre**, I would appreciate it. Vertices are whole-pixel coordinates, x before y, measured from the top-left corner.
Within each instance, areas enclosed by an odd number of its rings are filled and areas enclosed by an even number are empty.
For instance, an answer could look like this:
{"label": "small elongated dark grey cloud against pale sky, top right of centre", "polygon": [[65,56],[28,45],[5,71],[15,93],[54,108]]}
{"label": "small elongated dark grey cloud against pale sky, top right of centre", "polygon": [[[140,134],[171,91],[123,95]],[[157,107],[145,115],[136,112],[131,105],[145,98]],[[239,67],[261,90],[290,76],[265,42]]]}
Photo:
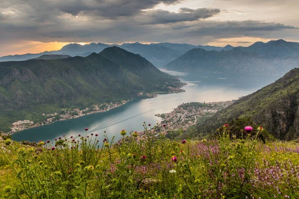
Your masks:
{"label": "small elongated dark grey cloud against pale sky, top right of centre", "polygon": [[[180,21],[195,21],[197,19],[209,18],[218,14],[220,9],[198,8],[190,9],[182,7],[179,12],[169,12],[166,10],[151,10],[146,12],[146,20],[151,24],[165,24]],[[146,21],[145,20],[145,21]],[[146,22],[147,23],[147,22]]]}

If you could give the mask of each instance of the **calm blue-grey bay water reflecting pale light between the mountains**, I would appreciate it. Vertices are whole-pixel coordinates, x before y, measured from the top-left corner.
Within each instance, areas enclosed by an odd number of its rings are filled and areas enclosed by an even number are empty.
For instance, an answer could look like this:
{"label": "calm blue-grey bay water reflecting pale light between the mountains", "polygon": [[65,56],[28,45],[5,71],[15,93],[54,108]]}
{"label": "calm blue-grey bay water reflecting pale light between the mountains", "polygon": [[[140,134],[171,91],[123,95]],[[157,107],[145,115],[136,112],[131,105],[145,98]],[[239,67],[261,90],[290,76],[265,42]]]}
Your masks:
{"label": "calm blue-grey bay water reflecting pale light between the mountains", "polygon": [[279,76],[254,76],[254,75],[230,75],[214,73],[181,73],[166,71],[171,75],[180,76],[186,92],[179,94],[159,95],[156,98],[145,100],[132,100],[127,104],[111,109],[107,112],[99,112],[82,116],[76,119],[56,122],[50,125],[31,128],[14,133],[12,139],[21,141],[53,141],[55,138],[78,136],[85,133],[88,127],[89,133],[98,133],[100,136],[107,131],[109,137],[120,137],[120,131],[143,130],[143,122],[155,124],[160,121],[157,113],[170,112],[179,104],[197,101],[226,101],[251,94],[276,80]]}

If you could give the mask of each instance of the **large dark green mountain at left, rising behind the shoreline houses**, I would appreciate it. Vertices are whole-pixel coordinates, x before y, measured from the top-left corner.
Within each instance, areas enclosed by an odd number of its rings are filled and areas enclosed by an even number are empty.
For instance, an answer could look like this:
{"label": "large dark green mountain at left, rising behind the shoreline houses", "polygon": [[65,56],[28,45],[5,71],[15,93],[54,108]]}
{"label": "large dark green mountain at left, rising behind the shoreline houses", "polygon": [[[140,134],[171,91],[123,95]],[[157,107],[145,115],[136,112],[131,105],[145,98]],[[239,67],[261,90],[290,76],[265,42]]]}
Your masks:
{"label": "large dark green mountain at left, rising behind the shoreline houses", "polygon": [[128,100],[180,87],[140,55],[109,47],[88,57],[0,63],[0,130],[42,113]]}

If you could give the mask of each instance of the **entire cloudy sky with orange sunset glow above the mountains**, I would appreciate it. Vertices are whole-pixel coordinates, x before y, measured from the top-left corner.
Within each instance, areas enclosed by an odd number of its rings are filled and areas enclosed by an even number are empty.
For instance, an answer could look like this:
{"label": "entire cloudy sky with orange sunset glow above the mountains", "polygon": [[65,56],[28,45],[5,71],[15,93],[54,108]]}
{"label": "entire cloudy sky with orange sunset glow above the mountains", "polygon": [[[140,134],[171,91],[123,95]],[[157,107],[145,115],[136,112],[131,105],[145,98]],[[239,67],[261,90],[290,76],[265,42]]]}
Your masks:
{"label": "entire cloudy sky with orange sunset glow above the mountains", "polygon": [[0,56],[69,43],[299,42],[299,0],[0,0]]}

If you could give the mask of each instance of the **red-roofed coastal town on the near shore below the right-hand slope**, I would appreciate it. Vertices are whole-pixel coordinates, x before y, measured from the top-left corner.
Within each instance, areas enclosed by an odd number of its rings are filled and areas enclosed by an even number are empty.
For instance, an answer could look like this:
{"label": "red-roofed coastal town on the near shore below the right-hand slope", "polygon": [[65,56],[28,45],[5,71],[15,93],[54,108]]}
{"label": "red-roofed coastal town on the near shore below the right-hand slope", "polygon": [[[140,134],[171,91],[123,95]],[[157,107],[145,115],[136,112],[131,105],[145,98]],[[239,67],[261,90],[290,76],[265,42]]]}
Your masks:
{"label": "red-roofed coastal town on the near shore below the right-hand slope", "polygon": [[220,102],[190,102],[183,103],[169,113],[156,114],[162,118],[162,124],[165,124],[167,130],[177,130],[182,128],[186,130],[189,126],[194,125],[199,119],[205,119],[215,114],[218,110],[229,106],[236,100]]}

